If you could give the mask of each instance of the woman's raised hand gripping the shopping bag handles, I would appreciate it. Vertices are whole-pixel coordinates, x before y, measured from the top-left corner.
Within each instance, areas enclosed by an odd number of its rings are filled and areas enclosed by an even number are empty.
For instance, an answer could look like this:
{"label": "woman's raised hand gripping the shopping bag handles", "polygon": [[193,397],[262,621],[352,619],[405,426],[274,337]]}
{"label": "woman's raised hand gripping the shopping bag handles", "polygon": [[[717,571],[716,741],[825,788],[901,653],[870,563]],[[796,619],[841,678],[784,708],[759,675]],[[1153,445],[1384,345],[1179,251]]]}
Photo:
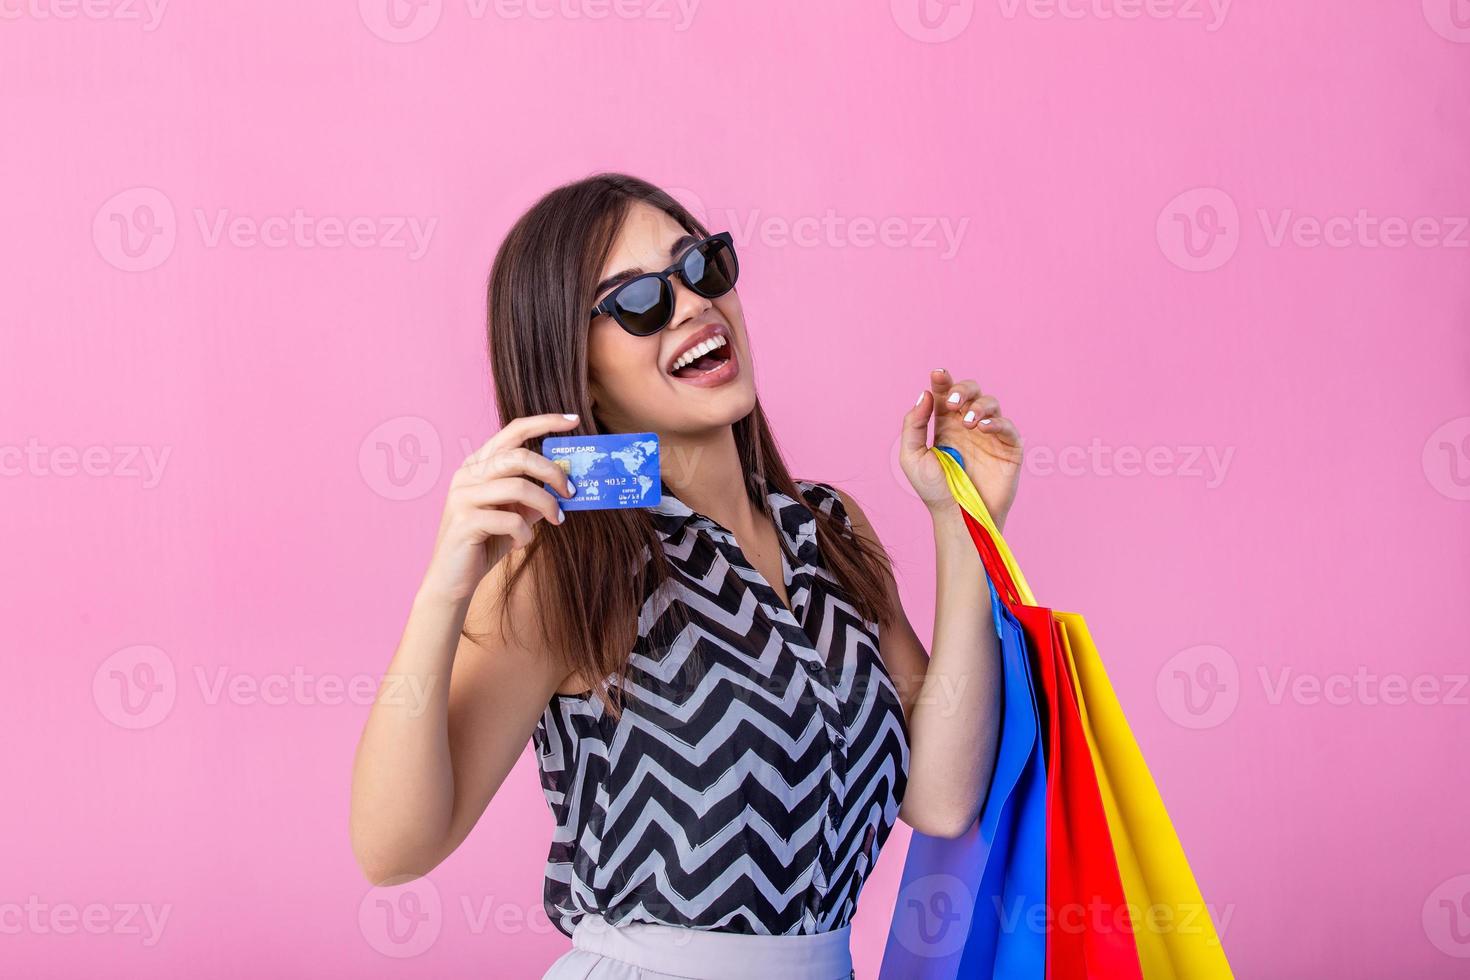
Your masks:
{"label": "woman's raised hand gripping the shopping bag handles", "polygon": [[[936,408],[938,406],[938,408]],[[954,381],[939,367],[929,372],[929,388],[904,416],[900,464],[931,511],[954,507],[939,460],[929,450],[929,416],[933,413],[933,445],[953,447],[964,457],[964,472],[980,492],[997,527],[1016,501],[1020,482],[1022,439],[1016,425],[1001,414],[995,395],[979,382]]]}

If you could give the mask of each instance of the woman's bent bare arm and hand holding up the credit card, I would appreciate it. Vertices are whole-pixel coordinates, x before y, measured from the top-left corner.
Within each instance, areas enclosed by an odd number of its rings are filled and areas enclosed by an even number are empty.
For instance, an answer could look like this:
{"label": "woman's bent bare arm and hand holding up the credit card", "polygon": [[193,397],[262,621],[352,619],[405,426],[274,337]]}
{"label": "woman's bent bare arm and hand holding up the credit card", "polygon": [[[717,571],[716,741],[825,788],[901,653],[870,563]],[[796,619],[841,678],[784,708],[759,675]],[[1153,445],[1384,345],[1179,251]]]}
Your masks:
{"label": "woman's bent bare arm and hand holding up the credit card", "polygon": [[[541,482],[572,495],[567,475],[522,442],[575,423],[512,419],[450,480],[434,557],[353,761],[353,854],[375,884],[426,874],[460,845],[569,673],[535,629],[532,576],[504,598],[504,630],[500,602],[532,526],[563,519]],[[488,633],[482,642],[460,636],[466,619]]]}

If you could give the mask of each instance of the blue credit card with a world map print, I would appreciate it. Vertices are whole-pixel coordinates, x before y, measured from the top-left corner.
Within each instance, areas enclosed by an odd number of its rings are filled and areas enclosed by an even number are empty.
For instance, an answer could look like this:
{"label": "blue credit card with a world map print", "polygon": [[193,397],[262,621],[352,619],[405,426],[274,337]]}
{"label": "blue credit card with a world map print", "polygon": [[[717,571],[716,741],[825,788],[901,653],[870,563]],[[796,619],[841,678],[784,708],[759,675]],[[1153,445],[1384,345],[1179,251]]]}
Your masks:
{"label": "blue credit card with a world map print", "polygon": [[542,483],[562,510],[653,507],[663,500],[657,432],[550,435],[541,439],[541,455],[564,469],[576,488],[572,497],[562,497]]}

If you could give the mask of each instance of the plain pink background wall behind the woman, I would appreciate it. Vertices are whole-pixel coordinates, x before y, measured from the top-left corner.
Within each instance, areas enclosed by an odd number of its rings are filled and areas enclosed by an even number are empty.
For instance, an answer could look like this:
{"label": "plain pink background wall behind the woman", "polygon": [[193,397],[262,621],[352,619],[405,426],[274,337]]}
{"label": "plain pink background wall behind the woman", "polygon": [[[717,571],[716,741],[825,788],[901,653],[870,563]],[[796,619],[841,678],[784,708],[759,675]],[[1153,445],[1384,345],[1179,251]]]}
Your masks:
{"label": "plain pink background wall behind the woman", "polygon": [[935,366],[1001,397],[1013,544],[1088,614],[1239,976],[1463,976],[1470,4],[928,13],[4,6],[0,973],[566,948],[531,754],[417,905],[366,886],[347,802],[492,432],[495,245],[625,169],[735,231],[792,467],[864,505],[923,636],[900,417]]}

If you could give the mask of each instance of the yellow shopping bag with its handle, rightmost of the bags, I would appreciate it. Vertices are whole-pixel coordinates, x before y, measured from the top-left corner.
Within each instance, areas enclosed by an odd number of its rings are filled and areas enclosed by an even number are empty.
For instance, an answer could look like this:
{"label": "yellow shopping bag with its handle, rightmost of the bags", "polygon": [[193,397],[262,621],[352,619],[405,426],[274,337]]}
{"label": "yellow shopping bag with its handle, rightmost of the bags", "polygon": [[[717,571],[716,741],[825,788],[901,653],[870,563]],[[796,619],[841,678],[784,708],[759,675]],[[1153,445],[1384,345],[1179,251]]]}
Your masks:
{"label": "yellow shopping bag with its handle, rightmost of the bags", "polygon": [[[960,466],[963,460],[948,447],[942,448],[941,466],[945,466],[951,491],[975,525],[972,535],[980,530],[986,538],[978,547],[986,558],[986,569],[1003,580],[1000,594],[1008,601],[1023,599],[1033,605],[1030,586]],[[945,464],[944,455],[957,463]],[[1210,909],[1102,669],[1086,621],[1075,613],[1055,611],[1053,620],[1054,644],[1067,686],[1073,691],[1130,909],[1142,974],[1147,980],[1229,979],[1233,974]],[[1051,860],[1055,861],[1054,854]]]}

